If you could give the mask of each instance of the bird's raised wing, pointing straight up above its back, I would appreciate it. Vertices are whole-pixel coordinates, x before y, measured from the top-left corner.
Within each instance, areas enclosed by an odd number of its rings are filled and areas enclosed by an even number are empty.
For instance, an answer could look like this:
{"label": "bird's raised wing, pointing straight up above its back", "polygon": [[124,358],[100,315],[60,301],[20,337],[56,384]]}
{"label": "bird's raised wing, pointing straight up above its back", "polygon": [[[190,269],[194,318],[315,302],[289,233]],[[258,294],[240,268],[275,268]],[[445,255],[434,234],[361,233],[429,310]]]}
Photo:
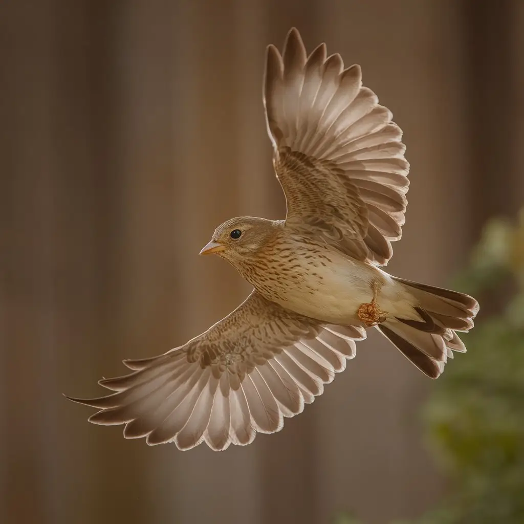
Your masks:
{"label": "bird's raised wing, pointing straight up above its back", "polygon": [[350,256],[386,264],[405,222],[409,164],[401,129],[358,65],[309,57],[297,29],[282,56],[267,49],[264,106],[286,223],[307,228]]}

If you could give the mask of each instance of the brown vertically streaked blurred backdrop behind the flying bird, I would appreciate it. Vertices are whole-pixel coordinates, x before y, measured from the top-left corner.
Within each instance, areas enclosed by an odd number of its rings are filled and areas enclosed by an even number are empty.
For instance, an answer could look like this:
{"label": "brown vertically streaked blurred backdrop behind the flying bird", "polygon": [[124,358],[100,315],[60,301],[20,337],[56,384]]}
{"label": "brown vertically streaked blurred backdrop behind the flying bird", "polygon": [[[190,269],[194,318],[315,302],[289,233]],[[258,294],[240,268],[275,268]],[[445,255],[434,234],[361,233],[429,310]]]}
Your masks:
{"label": "brown vertically streaked blurred backdrop behind the flying bird", "polygon": [[285,214],[261,76],[291,26],[360,63],[405,131],[392,272],[446,285],[522,202],[520,0],[2,2],[1,522],[373,524],[445,491],[417,418],[432,383],[375,333],[283,431],[224,453],[124,441],[61,396],[246,296],[197,255],[231,216]]}

